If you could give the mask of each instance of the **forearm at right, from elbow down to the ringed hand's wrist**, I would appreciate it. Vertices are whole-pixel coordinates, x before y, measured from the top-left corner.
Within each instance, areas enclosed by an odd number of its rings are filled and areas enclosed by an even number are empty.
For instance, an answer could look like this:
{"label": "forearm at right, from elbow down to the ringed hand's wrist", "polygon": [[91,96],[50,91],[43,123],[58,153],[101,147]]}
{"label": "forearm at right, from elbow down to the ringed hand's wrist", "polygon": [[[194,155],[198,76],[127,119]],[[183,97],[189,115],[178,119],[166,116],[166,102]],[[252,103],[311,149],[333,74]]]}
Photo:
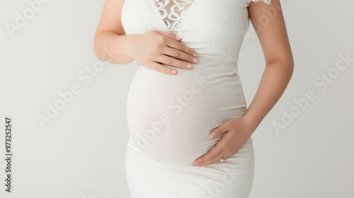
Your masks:
{"label": "forearm at right, from elbow down to the ringed hand's wrist", "polygon": [[265,67],[261,82],[244,118],[256,129],[278,102],[292,76],[292,62],[272,62]]}

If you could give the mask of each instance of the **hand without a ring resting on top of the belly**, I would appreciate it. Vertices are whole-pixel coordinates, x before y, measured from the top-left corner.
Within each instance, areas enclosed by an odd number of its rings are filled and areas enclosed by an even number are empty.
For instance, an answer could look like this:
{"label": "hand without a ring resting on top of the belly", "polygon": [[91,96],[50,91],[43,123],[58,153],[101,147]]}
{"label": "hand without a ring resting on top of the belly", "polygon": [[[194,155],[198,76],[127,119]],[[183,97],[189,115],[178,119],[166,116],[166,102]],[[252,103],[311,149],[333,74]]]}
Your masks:
{"label": "hand without a ring resting on top of the belly", "polygon": [[[191,69],[192,64],[198,62],[197,52],[183,45],[180,41],[181,38],[176,39],[176,35],[160,30],[151,30],[142,35],[131,35],[131,45],[130,49],[127,49],[127,55],[149,69],[155,69],[164,74],[176,74],[176,69],[162,64]],[[173,73],[173,71],[176,72]]]}

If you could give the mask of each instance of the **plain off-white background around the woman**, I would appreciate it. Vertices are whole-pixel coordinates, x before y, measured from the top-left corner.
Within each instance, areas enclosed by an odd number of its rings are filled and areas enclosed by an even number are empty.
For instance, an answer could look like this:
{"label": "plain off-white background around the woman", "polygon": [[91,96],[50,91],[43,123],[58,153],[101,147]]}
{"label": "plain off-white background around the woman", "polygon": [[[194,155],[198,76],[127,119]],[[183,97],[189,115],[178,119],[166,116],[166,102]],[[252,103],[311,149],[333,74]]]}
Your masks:
{"label": "plain off-white background around the woman", "polygon": [[[354,3],[282,3],[295,71],[282,98],[252,135],[250,197],[354,197]],[[105,63],[91,81],[79,78],[100,62],[93,54],[93,35],[103,4],[47,1],[11,37],[6,24],[14,24],[16,13],[30,6],[25,0],[1,0],[0,189],[5,198],[130,197],[125,103],[137,62]],[[352,59],[342,71],[336,69],[340,54]],[[265,66],[251,25],[239,57],[249,105]],[[325,74],[330,81],[322,79]],[[42,128],[38,115],[46,115],[47,105],[54,105],[59,92],[74,84],[81,92]],[[306,98],[307,92],[316,99],[301,109],[295,100]],[[277,132],[273,124],[282,124],[290,112],[292,122]],[[4,193],[5,116],[13,119],[12,196]]]}

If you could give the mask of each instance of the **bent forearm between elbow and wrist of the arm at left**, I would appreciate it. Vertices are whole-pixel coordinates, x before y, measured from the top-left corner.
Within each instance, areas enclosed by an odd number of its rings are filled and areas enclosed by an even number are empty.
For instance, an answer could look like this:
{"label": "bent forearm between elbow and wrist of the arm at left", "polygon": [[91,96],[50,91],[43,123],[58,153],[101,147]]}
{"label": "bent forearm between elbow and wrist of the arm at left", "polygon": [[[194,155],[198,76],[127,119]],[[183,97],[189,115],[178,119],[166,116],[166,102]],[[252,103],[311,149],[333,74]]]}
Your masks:
{"label": "bent forearm between elbow and wrist of the arm at left", "polygon": [[134,59],[127,55],[130,49],[130,39],[134,35],[118,35],[110,31],[103,31],[95,35],[93,52],[98,59],[113,64],[127,64]]}

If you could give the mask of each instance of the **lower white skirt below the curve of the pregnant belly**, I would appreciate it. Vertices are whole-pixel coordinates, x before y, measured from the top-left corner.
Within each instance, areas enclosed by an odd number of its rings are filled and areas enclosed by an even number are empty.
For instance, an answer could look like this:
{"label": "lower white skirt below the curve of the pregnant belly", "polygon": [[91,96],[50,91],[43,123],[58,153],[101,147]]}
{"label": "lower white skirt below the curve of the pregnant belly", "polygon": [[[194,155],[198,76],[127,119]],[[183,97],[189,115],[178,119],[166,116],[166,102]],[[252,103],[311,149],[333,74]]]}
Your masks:
{"label": "lower white skirt below the curve of the pregnant belly", "polygon": [[247,198],[253,182],[252,138],[227,160],[202,167],[154,161],[127,143],[125,170],[131,198]]}

